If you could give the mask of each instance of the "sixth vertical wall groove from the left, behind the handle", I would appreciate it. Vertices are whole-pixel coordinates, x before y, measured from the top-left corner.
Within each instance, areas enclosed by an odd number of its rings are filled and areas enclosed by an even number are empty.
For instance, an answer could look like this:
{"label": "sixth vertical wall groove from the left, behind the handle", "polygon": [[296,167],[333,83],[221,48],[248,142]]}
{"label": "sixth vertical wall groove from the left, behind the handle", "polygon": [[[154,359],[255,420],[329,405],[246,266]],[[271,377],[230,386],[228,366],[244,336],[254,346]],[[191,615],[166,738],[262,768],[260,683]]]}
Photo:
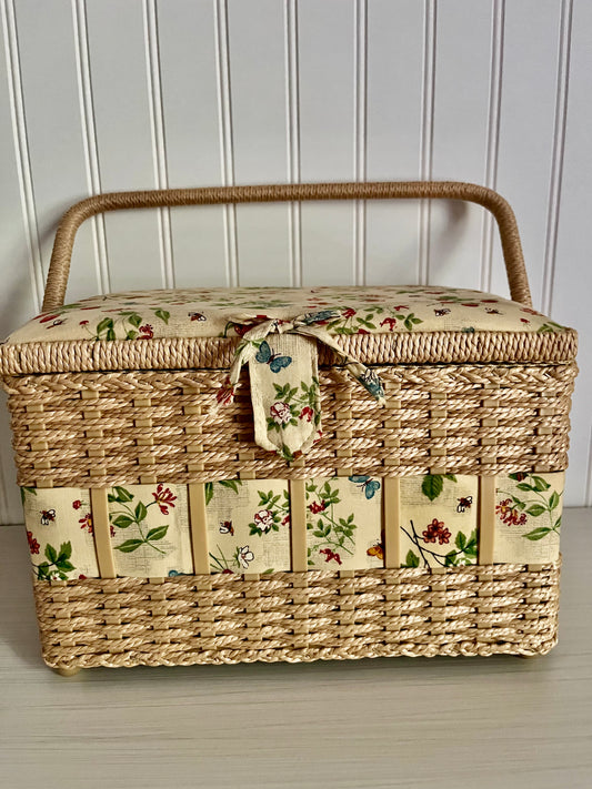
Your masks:
{"label": "sixth vertical wall groove from the left, behind the handle", "polygon": [[[368,80],[368,0],[357,0],[354,17],[354,180],[364,181],[367,172],[367,80]],[[353,275],[357,285],[365,284],[365,202],[355,204],[353,227]]]}

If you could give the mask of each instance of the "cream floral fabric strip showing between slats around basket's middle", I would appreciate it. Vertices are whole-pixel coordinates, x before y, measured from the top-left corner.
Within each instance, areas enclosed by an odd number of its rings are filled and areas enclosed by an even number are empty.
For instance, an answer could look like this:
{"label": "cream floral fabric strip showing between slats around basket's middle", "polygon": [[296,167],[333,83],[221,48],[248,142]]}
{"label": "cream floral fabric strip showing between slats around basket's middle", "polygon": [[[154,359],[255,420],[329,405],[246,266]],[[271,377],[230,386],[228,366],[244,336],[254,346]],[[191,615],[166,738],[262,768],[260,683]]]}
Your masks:
{"label": "cream floral fabric strip showing between slats around basket's middle", "polygon": [[[563,473],[496,477],[494,563],[558,559],[563,484]],[[382,479],[365,475],[307,481],[310,569],[384,566],[383,489]],[[401,566],[478,563],[476,476],[401,477],[400,492]],[[36,576],[98,577],[89,490],[23,488],[23,499]],[[110,489],[109,499],[118,575],[193,573],[187,486],[128,485]],[[287,481],[207,483],[205,502],[212,573],[291,569]]]}

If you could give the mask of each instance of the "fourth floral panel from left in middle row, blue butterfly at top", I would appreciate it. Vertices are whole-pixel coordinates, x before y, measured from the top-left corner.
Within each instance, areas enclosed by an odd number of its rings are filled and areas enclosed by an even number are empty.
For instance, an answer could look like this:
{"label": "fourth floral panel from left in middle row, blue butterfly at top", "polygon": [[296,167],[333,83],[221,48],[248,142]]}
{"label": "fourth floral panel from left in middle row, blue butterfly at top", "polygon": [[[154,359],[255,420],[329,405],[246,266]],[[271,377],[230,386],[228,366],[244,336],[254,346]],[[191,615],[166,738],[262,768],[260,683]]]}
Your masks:
{"label": "fourth floral panel from left in middle row, blue butterfly at top", "polygon": [[369,476],[307,482],[310,569],[384,567],[382,482]]}

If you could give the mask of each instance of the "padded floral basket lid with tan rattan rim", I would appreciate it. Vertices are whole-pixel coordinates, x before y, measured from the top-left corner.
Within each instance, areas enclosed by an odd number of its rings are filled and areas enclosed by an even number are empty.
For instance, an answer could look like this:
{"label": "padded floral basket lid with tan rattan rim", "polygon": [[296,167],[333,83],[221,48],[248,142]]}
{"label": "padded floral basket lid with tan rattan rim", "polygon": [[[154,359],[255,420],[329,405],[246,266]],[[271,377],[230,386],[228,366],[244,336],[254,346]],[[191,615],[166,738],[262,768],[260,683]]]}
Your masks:
{"label": "padded floral basket lid with tan rattan rim", "polygon": [[[322,328],[363,364],[569,361],[576,334],[518,302],[438,286],[129,291],[42,313],[0,346],[4,375],[230,367],[241,337],[267,321]],[[290,328],[288,331],[291,331]]]}

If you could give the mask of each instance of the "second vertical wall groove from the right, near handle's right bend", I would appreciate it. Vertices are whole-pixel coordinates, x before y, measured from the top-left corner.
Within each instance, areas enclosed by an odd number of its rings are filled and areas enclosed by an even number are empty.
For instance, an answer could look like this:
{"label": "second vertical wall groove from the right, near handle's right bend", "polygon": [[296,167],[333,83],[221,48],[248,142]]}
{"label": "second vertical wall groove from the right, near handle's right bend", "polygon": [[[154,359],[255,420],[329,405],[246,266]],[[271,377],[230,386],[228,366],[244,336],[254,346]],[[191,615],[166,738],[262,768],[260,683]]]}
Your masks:
{"label": "second vertical wall groove from the right, near handle's right bend", "polygon": [[[505,0],[494,0],[491,24],[491,68],[488,109],[488,142],[485,154],[485,186],[496,188],[498,151],[500,146],[500,117],[503,73],[503,33],[505,22]],[[493,216],[483,213],[483,241],[481,247],[481,290],[491,291],[491,266],[493,257]]]}

